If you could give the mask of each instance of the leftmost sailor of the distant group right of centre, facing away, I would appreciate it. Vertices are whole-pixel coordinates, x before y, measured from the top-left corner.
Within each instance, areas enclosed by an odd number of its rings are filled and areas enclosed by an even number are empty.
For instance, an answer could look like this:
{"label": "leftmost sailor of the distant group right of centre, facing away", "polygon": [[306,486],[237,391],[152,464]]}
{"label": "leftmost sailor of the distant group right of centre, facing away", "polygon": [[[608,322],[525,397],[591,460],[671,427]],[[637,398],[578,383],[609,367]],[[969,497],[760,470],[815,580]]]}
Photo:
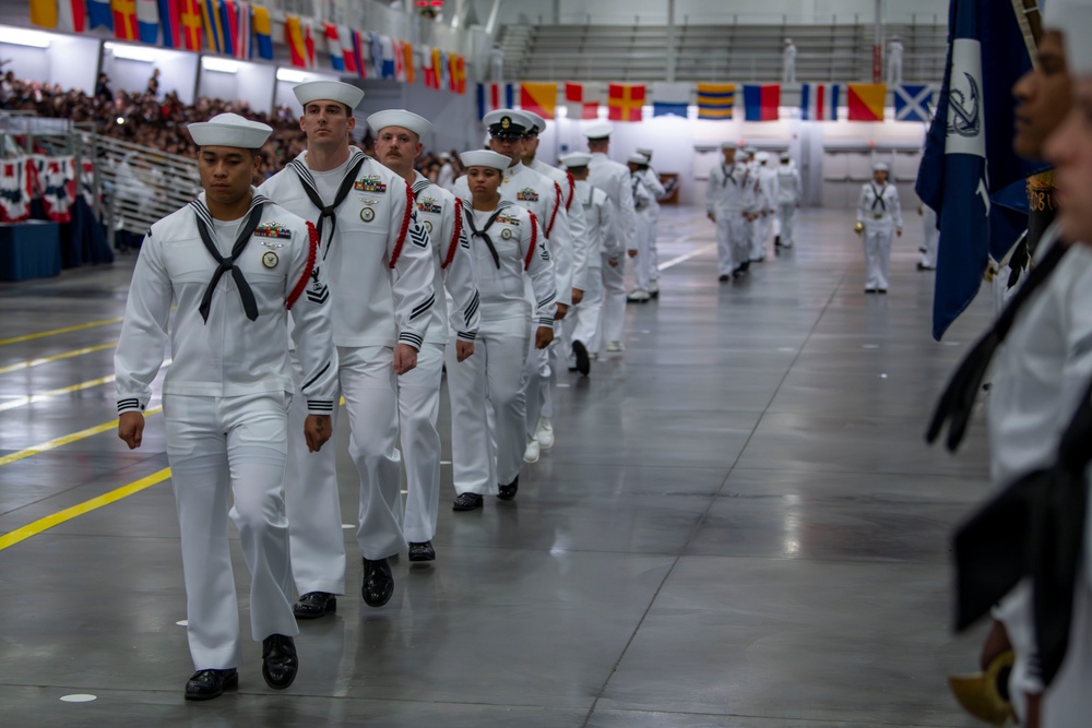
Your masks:
{"label": "leftmost sailor of the distant group right of centre, facing away", "polygon": [[746,272],[750,243],[745,216],[755,186],[747,166],[736,159],[735,143],[722,142],[721,154],[721,164],[709,170],[705,215],[716,224],[717,279],[724,283]]}

